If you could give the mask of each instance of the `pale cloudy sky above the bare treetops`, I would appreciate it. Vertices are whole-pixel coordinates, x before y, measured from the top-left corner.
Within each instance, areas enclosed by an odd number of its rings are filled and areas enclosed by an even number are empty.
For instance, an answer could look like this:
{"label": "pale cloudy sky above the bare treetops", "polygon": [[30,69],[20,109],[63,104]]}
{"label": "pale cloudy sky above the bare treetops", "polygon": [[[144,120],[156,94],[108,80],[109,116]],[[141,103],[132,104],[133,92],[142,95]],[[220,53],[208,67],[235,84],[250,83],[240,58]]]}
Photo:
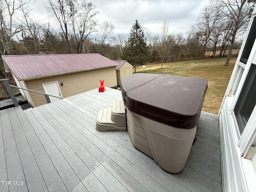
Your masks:
{"label": "pale cloudy sky above the bare treetops", "polygon": [[[38,0],[31,8],[35,18],[47,22],[43,2]],[[96,5],[100,11],[99,21],[108,20],[114,24],[115,32],[128,34],[132,24],[138,22],[150,29],[152,33],[158,32],[164,20],[169,21],[169,31],[186,32],[196,21],[200,8],[208,0],[88,0]]]}

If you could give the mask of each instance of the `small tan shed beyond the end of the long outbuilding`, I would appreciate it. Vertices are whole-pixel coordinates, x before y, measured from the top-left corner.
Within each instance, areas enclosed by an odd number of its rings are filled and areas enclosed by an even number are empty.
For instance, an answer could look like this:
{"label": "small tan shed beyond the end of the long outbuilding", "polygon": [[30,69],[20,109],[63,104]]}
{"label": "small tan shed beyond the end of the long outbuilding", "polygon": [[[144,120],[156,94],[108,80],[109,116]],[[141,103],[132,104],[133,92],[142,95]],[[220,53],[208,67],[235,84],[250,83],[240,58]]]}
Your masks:
{"label": "small tan shed beyond the end of the long outbuilding", "polygon": [[121,79],[125,76],[132,75],[133,66],[125,60],[115,60],[114,62],[118,63],[116,66],[116,77],[117,85],[121,85]]}

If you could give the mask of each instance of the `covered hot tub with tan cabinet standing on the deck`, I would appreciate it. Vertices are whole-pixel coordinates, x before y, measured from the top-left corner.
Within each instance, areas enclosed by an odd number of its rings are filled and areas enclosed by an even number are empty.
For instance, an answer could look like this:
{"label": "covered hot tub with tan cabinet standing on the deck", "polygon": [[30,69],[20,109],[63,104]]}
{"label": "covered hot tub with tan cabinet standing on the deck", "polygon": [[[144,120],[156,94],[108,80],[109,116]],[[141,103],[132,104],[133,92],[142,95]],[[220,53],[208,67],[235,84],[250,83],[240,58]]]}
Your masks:
{"label": "covered hot tub with tan cabinet standing on the deck", "polygon": [[121,81],[132,144],[172,173],[181,172],[196,135],[207,80],[136,73]]}

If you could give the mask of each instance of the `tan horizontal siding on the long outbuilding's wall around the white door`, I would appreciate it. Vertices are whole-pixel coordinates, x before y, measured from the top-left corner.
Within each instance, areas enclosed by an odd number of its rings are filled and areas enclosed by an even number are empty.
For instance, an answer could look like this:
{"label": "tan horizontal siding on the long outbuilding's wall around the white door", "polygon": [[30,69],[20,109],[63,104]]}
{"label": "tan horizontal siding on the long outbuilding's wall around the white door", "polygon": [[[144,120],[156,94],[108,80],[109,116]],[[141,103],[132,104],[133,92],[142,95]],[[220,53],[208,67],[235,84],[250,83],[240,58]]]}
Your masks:
{"label": "tan horizontal siding on the long outbuilding's wall around the white door", "polygon": [[[58,81],[60,91],[63,98],[67,98],[82,92],[86,92],[100,86],[100,81],[104,79],[104,86],[113,87],[117,85],[116,68],[115,66],[108,68],[101,68],[95,70],[88,70],[84,72],[75,72],[69,74],[55,75],[45,78],[37,78],[24,81],[26,88],[38,92],[44,92],[43,83]],[[61,86],[61,82],[63,86]],[[32,104],[38,107],[47,104],[46,98],[43,94],[30,92]]]}

